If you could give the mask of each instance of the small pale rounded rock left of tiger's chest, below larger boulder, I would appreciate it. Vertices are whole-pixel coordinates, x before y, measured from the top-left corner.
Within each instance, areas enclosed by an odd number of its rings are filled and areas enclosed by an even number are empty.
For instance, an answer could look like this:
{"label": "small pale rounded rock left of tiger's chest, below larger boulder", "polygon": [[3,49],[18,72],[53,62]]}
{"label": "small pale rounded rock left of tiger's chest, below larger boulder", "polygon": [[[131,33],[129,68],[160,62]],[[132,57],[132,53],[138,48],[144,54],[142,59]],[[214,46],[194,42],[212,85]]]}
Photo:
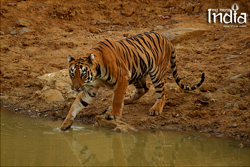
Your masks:
{"label": "small pale rounded rock left of tiger's chest, below larger boulder", "polygon": [[49,90],[43,91],[40,95],[40,98],[46,102],[64,101],[64,98],[61,92],[56,89],[49,89]]}

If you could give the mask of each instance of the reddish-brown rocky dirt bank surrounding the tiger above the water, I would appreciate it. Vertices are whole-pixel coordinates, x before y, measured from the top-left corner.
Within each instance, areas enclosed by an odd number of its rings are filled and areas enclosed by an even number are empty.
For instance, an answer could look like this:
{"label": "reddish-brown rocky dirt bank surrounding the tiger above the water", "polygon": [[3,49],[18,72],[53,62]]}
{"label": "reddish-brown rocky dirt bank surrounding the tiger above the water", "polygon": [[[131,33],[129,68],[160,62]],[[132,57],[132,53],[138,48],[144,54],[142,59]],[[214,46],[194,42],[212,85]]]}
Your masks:
{"label": "reddish-brown rocky dirt bank surrounding the tiger above the water", "polygon": [[[1,107],[63,120],[76,96],[66,70],[68,55],[81,57],[105,38],[120,40],[154,31],[176,46],[183,83],[198,83],[203,72],[205,82],[198,90],[182,91],[169,68],[162,115],[148,115],[156,100],[151,86],[143,98],[124,107],[122,124],[136,130],[199,131],[249,143],[249,16],[245,27],[224,27],[207,20],[207,9],[227,9],[233,3],[2,0]],[[249,14],[249,2],[237,3],[238,13]],[[130,86],[126,98],[132,93]],[[96,125],[105,122],[101,115],[110,106],[111,97],[112,91],[99,90],[93,104],[76,120],[96,121]]]}

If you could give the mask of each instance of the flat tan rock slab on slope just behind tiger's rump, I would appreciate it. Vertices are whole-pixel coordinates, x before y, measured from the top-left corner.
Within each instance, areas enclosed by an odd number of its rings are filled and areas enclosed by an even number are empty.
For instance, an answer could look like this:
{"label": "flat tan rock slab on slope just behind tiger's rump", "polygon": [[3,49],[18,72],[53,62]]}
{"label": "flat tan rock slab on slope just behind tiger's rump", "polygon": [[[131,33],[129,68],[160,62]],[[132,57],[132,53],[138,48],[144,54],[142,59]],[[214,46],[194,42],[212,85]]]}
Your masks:
{"label": "flat tan rock slab on slope just behind tiger's rump", "polygon": [[193,38],[204,33],[205,29],[194,29],[194,28],[176,28],[163,32],[162,35],[168,38],[172,43],[178,43],[182,40]]}

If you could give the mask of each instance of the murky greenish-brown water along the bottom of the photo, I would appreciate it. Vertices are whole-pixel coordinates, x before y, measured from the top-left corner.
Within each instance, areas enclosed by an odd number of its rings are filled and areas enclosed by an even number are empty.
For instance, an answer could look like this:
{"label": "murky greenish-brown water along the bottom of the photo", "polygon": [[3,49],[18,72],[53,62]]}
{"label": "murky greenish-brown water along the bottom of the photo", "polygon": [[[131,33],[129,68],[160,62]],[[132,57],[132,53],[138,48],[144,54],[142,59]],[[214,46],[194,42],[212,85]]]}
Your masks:
{"label": "murky greenish-brown water along the bottom of the photo", "polygon": [[249,166],[239,141],[179,132],[116,133],[1,110],[1,166]]}

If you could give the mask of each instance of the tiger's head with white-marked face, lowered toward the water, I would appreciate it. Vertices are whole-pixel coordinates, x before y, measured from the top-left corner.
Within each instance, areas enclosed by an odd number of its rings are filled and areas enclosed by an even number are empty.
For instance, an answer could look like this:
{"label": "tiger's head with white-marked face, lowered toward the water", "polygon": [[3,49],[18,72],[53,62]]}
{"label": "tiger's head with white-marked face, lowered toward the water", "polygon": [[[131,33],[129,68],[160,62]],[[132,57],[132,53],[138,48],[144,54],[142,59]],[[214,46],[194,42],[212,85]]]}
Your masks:
{"label": "tiger's head with white-marked face, lowered toward the water", "polygon": [[69,62],[69,76],[72,81],[72,89],[76,91],[84,90],[84,86],[91,83],[94,79],[94,71],[92,70],[94,54],[89,54],[87,57],[82,57],[75,60],[70,55]]}

